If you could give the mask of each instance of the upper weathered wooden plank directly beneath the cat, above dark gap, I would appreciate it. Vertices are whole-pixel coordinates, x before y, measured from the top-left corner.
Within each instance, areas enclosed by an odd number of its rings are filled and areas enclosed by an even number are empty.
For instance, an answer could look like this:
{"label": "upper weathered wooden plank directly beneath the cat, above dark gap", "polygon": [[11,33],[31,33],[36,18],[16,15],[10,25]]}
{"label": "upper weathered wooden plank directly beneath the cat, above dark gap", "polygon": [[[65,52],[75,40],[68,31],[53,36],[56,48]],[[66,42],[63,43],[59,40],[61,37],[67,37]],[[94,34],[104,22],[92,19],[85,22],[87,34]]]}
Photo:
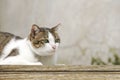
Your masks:
{"label": "upper weathered wooden plank directly beneath the cat, above dark gap", "polygon": [[120,66],[0,66],[1,71],[114,71],[120,72]]}

